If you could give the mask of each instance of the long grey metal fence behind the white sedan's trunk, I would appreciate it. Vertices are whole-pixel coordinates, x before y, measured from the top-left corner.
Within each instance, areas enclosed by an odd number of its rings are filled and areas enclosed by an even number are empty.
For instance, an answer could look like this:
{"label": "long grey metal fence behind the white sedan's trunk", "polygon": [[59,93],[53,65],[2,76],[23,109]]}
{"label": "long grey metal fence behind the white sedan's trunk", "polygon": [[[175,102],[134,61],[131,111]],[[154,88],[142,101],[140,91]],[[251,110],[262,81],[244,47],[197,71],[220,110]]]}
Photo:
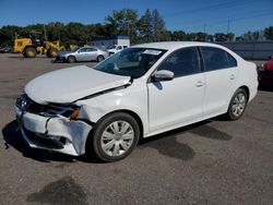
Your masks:
{"label": "long grey metal fence behind the white sedan's trunk", "polygon": [[273,41],[217,43],[248,60],[268,60],[273,55]]}

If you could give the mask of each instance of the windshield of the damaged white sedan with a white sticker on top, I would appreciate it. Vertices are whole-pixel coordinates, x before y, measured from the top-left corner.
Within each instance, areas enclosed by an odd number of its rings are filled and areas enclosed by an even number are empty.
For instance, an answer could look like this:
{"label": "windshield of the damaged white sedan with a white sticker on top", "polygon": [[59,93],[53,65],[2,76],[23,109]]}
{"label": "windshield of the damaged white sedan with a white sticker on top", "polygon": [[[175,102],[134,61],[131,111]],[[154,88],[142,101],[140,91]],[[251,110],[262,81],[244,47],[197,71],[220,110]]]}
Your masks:
{"label": "windshield of the damaged white sedan with a white sticker on top", "polygon": [[142,76],[166,52],[153,48],[127,48],[95,67],[95,70],[117,75]]}

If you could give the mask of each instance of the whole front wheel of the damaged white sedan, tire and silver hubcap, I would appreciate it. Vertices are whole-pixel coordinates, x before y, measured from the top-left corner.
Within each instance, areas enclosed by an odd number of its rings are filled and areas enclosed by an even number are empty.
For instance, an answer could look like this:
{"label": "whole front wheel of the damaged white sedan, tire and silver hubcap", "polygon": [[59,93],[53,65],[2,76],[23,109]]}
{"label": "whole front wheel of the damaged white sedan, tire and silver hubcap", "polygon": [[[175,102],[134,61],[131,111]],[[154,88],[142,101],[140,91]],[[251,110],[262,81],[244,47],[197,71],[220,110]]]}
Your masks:
{"label": "whole front wheel of the damaged white sedan, tire and silver hubcap", "polygon": [[106,116],[94,128],[92,145],[104,161],[117,161],[131,154],[140,138],[139,124],[123,112]]}

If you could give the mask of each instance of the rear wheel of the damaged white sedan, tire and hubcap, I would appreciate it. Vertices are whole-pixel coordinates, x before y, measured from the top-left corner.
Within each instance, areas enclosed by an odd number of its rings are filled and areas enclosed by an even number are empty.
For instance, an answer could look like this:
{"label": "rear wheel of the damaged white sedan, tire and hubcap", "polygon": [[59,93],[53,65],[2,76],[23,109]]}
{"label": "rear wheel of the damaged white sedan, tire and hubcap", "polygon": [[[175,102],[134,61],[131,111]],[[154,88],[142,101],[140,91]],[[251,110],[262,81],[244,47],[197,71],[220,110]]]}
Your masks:
{"label": "rear wheel of the damaged white sedan, tire and hubcap", "polygon": [[248,102],[247,92],[239,88],[235,92],[226,113],[228,120],[238,120],[245,112]]}

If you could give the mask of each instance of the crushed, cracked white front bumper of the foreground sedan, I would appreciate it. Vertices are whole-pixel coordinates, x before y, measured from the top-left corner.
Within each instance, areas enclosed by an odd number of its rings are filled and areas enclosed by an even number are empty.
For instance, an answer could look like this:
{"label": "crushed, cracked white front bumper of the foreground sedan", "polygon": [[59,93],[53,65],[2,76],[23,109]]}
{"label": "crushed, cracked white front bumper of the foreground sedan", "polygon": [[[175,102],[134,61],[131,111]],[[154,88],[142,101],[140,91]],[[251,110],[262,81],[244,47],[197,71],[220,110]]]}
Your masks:
{"label": "crushed, cracked white front bumper of the foreground sedan", "polygon": [[22,111],[15,106],[16,119],[24,140],[33,148],[79,156],[85,153],[85,142],[92,125],[62,116],[44,117]]}

